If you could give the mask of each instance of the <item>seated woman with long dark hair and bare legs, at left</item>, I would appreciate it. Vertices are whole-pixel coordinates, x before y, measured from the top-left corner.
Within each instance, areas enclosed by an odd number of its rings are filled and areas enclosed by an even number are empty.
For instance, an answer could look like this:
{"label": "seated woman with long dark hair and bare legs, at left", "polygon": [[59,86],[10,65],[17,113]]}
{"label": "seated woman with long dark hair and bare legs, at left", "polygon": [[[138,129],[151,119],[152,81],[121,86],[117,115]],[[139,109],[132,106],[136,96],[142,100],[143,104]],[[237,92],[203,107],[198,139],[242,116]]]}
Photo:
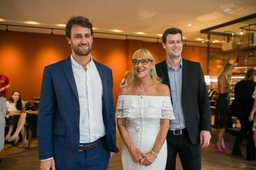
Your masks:
{"label": "seated woman with long dark hair and bare legs, at left", "polygon": [[[9,142],[14,141],[16,143],[19,140],[19,133],[21,132],[21,144],[27,144],[26,127],[24,127],[26,120],[25,103],[21,101],[19,91],[13,91],[11,98],[6,102],[6,110],[6,120],[9,124],[9,131],[5,137],[5,140]],[[15,125],[17,125],[16,131],[13,136],[11,136]]]}

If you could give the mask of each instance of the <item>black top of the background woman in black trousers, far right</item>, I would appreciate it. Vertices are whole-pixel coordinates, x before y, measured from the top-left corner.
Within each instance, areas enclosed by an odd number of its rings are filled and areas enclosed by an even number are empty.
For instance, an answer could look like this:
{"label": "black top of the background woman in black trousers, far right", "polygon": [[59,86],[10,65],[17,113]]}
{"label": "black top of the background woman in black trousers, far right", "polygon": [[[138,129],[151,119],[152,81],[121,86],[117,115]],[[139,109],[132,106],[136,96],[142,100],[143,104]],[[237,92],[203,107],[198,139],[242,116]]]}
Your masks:
{"label": "black top of the background woman in black trousers, far right", "polygon": [[[235,99],[232,103],[234,111],[244,111],[244,116],[248,117],[252,110],[254,99],[252,94],[255,88],[255,82],[252,80],[242,80],[235,85]],[[240,112],[239,112],[240,113]]]}

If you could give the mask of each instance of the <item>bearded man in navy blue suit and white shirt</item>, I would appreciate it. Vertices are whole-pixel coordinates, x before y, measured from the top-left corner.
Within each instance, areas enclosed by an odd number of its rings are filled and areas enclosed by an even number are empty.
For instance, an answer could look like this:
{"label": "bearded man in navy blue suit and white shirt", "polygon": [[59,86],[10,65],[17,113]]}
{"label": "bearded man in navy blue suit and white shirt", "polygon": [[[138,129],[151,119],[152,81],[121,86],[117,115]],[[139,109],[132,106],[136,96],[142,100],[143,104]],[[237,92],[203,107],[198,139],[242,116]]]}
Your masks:
{"label": "bearded man in navy blue suit and white shirt", "polygon": [[44,69],[38,111],[40,169],[107,169],[115,145],[112,71],[91,57],[93,26],[66,25],[72,54]]}

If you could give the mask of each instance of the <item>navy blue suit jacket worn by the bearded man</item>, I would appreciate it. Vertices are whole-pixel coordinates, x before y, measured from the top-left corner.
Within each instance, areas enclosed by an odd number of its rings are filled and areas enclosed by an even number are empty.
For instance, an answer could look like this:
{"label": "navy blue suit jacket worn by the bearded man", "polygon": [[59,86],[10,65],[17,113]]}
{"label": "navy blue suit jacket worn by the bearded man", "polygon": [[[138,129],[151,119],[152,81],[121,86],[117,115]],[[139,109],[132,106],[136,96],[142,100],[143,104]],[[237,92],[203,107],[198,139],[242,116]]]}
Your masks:
{"label": "navy blue suit jacket worn by the bearded man", "polygon": [[[102,79],[102,114],[107,150],[118,152],[115,145],[112,71],[95,62]],[[79,99],[71,58],[44,69],[38,111],[39,159],[54,157],[56,169],[71,169],[79,152]],[[99,160],[100,161],[100,160]]]}

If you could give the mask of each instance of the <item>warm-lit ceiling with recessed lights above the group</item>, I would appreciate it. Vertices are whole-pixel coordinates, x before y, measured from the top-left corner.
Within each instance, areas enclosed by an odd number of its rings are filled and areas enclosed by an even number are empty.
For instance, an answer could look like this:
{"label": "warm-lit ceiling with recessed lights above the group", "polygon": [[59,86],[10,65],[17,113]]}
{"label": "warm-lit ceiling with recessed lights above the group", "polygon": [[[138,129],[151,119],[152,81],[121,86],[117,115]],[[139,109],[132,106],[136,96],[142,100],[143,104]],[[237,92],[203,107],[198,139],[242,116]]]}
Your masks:
{"label": "warm-lit ceiling with recessed lights above the group", "polygon": [[[231,11],[225,12],[231,9]],[[200,30],[256,13],[255,0],[1,0],[0,24],[29,25],[25,21],[35,21],[47,28],[63,28],[71,16],[82,15],[90,19],[96,32],[130,35],[129,39],[161,42],[161,34],[166,28],[178,27],[183,30],[185,40],[206,40]],[[256,19],[244,21],[219,31],[240,31],[240,26],[256,23]],[[188,26],[188,25],[192,26]],[[6,26],[0,26],[6,30]],[[22,28],[8,26],[9,31],[29,31],[51,33],[49,29]],[[139,33],[138,33],[139,32]],[[63,30],[53,30],[54,34],[64,34]],[[120,38],[126,36],[96,33],[95,37]],[[154,37],[141,38],[131,35]],[[157,40],[157,38],[160,38]],[[196,40],[202,38],[202,40]],[[223,37],[214,37],[223,40]],[[212,38],[212,40],[214,40]]]}

